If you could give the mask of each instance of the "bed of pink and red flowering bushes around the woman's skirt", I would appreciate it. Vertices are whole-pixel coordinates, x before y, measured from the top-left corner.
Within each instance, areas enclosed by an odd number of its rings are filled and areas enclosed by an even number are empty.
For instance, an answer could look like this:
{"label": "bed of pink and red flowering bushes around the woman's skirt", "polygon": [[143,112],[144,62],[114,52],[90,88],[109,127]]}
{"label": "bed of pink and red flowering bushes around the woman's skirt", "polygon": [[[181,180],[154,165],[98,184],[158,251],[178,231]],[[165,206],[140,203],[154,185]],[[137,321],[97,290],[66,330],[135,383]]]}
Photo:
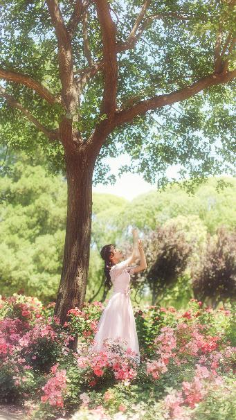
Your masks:
{"label": "bed of pink and red flowering bushes around the woman's skirt", "polygon": [[119,339],[89,353],[100,302],[69,310],[63,326],[54,305],[1,297],[0,403],[33,401],[32,420],[236,420],[235,305],[134,308],[140,365]]}

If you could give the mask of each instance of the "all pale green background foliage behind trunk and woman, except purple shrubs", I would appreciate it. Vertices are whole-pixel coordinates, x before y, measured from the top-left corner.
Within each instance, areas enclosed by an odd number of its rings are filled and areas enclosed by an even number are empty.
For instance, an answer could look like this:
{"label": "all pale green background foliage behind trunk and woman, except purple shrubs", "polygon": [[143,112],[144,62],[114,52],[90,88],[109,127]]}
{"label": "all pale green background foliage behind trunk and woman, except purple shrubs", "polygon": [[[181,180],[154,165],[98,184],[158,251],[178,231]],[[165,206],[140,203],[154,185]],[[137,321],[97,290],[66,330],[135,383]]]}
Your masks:
{"label": "all pale green background foliage behind trunk and woman, except purple shrubs", "polygon": [[[1,177],[0,286],[3,295],[11,295],[15,290],[37,293],[47,304],[55,299],[60,281],[66,183],[62,176],[49,175],[39,161],[21,153],[10,173]],[[87,301],[104,301],[107,297],[100,248],[104,243],[116,243],[128,255],[131,252],[130,225],[134,223],[143,238],[145,234],[148,238],[156,225],[174,226],[180,235],[184,232],[185,240],[192,246],[188,267],[184,276],[179,276],[172,287],[166,289],[162,301],[183,307],[192,297],[190,266],[197,270],[205,252],[207,229],[214,233],[219,224],[224,223],[229,231],[233,230],[236,194],[235,181],[230,181],[233,187],[228,186],[220,193],[215,191],[216,180],[208,180],[192,197],[172,186],[163,193],[140,195],[131,204],[115,195],[93,193]],[[137,295],[148,300],[147,283],[139,280],[142,280],[140,275],[134,275],[134,301]]]}

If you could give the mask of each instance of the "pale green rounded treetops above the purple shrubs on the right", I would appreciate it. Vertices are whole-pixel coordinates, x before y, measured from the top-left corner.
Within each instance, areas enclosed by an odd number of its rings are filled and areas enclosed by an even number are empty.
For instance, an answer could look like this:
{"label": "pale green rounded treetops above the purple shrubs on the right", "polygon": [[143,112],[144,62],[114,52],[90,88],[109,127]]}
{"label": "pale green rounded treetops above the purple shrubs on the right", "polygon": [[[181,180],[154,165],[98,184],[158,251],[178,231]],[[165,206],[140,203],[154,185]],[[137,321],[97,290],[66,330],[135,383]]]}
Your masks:
{"label": "pale green rounded treetops above the purple shrubs on the right", "polygon": [[206,184],[195,188],[194,195],[188,195],[181,185],[171,184],[165,191],[140,194],[121,211],[117,221],[118,229],[125,231],[127,226],[136,225],[140,231],[146,232],[179,216],[186,218],[185,223],[178,221],[185,228],[189,218],[190,232],[191,225],[198,223],[197,217],[210,234],[215,234],[220,226],[232,230],[236,224],[236,181],[233,177],[222,177],[219,180],[228,181],[230,185],[217,191],[217,178],[210,177]]}

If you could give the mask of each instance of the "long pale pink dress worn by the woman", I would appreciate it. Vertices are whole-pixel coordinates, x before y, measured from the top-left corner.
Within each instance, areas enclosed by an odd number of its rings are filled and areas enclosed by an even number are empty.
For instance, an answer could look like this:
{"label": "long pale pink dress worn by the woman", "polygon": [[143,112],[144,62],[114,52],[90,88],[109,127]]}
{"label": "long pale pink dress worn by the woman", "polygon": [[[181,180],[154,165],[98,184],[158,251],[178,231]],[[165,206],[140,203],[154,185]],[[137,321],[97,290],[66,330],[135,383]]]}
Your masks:
{"label": "long pale pink dress worn by the woman", "polygon": [[98,331],[94,336],[94,344],[89,351],[100,351],[105,338],[122,338],[127,342],[126,349],[136,353],[136,361],[140,363],[140,351],[133,308],[129,297],[130,274],[134,268],[127,260],[113,265],[110,270],[112,295],[98,322]]}

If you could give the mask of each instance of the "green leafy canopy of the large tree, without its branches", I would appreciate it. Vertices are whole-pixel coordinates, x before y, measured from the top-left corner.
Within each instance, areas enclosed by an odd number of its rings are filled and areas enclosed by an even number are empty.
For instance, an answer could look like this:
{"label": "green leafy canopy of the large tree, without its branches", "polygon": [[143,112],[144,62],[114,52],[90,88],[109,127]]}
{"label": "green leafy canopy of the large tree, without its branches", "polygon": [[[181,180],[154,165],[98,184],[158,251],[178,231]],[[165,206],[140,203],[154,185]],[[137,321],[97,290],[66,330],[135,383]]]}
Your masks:
{"label": "green leafy canopy of the large tree, without its branches", "polygon": [[[235,33],[235,8],[231,1],[152,1],[140,22],[140,35],[134,46],[118,53],[118,109],[127,109],[153,96],[170,94],[192,85],[201,78],[235,67],[235,51],[227,44],[228,35]],[[61,1],[65,25],[73,13],[73,2]],[[111,17],[116,25],[116,42],[124,44],[134,26],[142,4],[138,0],[112,1]],[[1,6],[1,67],[15,71],[42,83],[53,96],[61,90],[57,57],[57,38],[44,1],[11,1]],[[180,18],[179,18],[180,16]],[[156,17],[156,18],[154,18]],[[221,59],[216,67],[215,44],[221,27]],[[98,24],[96,4],[88,6],[89,51],[95,63],[102,58],[102,31]],[[143,30],[141,29],[143,28]],[[230,38],[231,40],[231,38]],[[87,68],[84,53],[83,26],[79,22],[71,38],[75,83],[79,72]],[[224,48],[225,46],[225,48]],[[158,59],[157,59],[158,56]],[[223,66],[223,67],[222,67]],[[65,111],[60,103],[42,100],[33,89],[6,80],[6,91],[46,127],[54,129]],[[96,72],[82,87],[79,110],[72,117],[73,128],[88,139],[100,114],[104,77]],[[131,155],[131,166],[121,172],[143,173],[145,180],[166,184],[165,171],[170,164],[180,168],[183,178],[189,174],[195,184],[216,173],[233,173],[234,146],[234,84],[208,87],[199,94],[182,100],[178,105],[166,105],[156,112],[136,116],[109,136],[96,161],[94,182],[109,182],[111,175],[104,162],[107,156],[120,152]],[[1,143],[28,155],[40,148],[53,172],[64,170],[64,150],[57,141],[48,142],[21,112],[1,99]],[[80,115],[80,119],[74,118]],[[157,122],[156,122],[156,121]],[[114,181],[114,180],[113,180]],[[189,182],[186,182],[188,186]]]}

